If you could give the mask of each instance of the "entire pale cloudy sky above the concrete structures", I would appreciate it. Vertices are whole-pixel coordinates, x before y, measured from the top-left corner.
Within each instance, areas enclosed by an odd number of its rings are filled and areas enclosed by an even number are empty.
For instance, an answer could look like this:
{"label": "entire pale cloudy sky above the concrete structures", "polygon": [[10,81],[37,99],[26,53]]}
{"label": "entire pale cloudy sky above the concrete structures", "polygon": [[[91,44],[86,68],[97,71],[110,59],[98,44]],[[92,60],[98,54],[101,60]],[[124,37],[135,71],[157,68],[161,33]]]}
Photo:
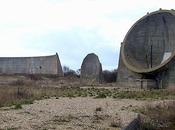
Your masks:
{"label": "entire pale cloudy sky above the concrete structures", "polygon": [[58,52],[76,70],[94,52],[104,69],[116,69],[128,29],[159,8],[175,0],[0,0],[0,57]]}

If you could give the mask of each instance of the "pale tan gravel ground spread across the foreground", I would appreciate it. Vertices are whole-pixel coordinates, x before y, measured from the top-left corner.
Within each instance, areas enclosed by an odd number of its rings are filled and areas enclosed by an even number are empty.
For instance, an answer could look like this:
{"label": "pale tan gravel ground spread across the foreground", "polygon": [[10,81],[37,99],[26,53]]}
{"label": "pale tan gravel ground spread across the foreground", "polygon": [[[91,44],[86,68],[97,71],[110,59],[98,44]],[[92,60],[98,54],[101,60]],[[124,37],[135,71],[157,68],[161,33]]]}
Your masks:
{"label": "pale tan gravel ground spread across the foreground", "polygon": [[22,109],[1,108],[2,130],[117,130],[147,101],[129,99],[51,98],[23,105]]}

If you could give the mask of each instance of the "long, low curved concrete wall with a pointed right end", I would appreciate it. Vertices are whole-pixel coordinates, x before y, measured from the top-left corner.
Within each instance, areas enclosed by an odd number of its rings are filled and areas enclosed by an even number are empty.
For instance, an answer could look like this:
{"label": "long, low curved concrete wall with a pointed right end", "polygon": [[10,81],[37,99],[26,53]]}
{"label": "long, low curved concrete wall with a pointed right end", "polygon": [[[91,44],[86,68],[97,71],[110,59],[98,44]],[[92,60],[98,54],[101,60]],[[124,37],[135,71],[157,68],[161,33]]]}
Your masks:
{"label": "long, low curved concrete wall with a pointed right end", "polygon": [[58,54],[40,57],[0,57],[1,74],[58,74],[63,71]]}

